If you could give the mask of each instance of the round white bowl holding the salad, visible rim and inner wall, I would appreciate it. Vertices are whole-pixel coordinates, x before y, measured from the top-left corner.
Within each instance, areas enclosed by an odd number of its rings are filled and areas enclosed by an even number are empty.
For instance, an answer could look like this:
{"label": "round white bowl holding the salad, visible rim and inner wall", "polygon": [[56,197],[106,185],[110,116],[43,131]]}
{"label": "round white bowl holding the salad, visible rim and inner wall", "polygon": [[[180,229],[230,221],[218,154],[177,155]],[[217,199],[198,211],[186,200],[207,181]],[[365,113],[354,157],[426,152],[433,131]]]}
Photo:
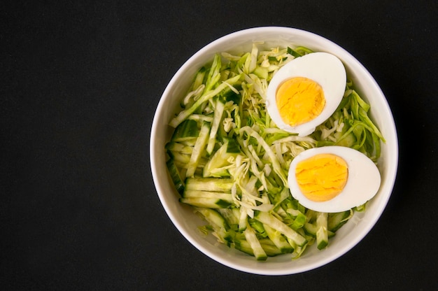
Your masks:
{"label": "round white bowl holding the salad, visible rim and inner wall", "polygon": [[[249,52],[252,43],[259,41],[263,41],[266,48],[278,45],[283,47],[304,45],[311,50],[330,52],[339,57],[346,66],[348,77],[353,80],[355,89],[371,104],[372,119],[386,139],[379,159],[381,187],[374,199],[367,204],[367,210],[364,213],[355,213],[353,218],[330,240],[325,250],[308,248],[297,260],[292,260],[290,255],[280,255],[269,257],[266,262],[257,262],[254,257],[234,248],[218,245],[213,236],[204,237],[199,234],[197,227],[202,225],[202,221],[192,212],[190,206],[178,202],[178,194],[167,173],[164,145],[169,141],[173,131],[168,123],[178,111],[179,102],[188,90],[196,71],[210,62],[217,52]],[[386,207],[395,183],[397,160],[397,132],[393,115],[383,92],[367,69],[332,41],[308,31],[288,27],[257,27],[237,31],[218,38],[196,52],[181,66],[164,90],[150,134],[150,166],[153,180],[162,206],[176,228],[193,246],[213,260],[252,274],[297,274],[328,264],[351,250],[372,229]]]}

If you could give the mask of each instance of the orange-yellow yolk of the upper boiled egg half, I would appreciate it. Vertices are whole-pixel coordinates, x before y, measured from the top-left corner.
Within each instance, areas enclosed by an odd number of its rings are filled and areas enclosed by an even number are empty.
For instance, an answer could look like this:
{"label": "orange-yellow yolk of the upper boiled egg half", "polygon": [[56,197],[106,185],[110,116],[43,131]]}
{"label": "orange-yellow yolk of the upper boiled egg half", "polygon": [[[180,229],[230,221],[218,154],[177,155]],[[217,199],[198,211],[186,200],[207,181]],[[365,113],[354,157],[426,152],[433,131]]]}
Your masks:
{"label": "orange-yellow yolk of the upper boiled egg half", "polygon": [[276,104],[286,124],[292,127],[301,125],[313,120],[323,111],[323,88],[309,78],[290,78],[278,87]]}

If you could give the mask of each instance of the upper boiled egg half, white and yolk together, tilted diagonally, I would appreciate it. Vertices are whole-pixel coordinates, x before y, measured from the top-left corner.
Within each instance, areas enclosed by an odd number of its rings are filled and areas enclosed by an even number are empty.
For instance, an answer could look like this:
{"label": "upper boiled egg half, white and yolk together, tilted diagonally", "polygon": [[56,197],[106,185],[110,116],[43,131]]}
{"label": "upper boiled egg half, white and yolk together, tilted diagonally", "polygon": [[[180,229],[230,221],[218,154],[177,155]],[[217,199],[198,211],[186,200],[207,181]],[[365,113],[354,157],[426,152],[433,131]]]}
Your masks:
{"label": "upper boiled egg half, white and yolk together, tilted diagonally", "polygon": [[267,111],[279,128],[306,136],[330,118],[345,87],[341,60],[327,52],[313,52],[275,73],[267,88]]}

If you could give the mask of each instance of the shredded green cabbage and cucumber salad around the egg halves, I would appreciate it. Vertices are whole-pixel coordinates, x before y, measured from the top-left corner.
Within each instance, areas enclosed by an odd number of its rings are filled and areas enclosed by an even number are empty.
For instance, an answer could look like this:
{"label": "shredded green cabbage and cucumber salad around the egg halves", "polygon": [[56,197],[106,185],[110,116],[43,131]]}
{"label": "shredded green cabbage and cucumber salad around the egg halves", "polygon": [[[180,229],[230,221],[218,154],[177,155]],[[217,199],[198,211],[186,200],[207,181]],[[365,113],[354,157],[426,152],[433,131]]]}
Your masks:
{"label": "shredded green cabbage and cucumber salad around the egg halves", "polygon": [[179,201],[205,221],[204,235],[253,255],[256,260],[306,248],[327,247],[355,211],[339,213],[305,208],[288,187],[292,160],[304,150],[324,146],[353,148],[377,162],[384,142],[370,120],[369,104],[347,81],[336,111],[307,136],[280,129],[266,108],[267,87],[293,59],[313,53],[286,47],[233,55],[222,52],[203,66],[169,122],[174,134],[165,145],[167,169]]}

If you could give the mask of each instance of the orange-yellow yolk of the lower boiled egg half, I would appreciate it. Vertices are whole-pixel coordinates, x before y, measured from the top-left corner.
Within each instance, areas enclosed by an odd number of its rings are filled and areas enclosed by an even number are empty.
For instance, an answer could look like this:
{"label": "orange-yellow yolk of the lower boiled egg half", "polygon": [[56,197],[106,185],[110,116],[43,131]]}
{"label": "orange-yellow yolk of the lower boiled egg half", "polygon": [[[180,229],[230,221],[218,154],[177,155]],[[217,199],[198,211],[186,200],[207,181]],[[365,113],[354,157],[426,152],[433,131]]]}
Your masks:
{"label": "orange-yellow yolk of the lower boiled egg half", "polygon": [[344,189],[348,166],[337,155],[314,155],[297,163],[295,177],[299,189],[309,200],[328,201]]}

